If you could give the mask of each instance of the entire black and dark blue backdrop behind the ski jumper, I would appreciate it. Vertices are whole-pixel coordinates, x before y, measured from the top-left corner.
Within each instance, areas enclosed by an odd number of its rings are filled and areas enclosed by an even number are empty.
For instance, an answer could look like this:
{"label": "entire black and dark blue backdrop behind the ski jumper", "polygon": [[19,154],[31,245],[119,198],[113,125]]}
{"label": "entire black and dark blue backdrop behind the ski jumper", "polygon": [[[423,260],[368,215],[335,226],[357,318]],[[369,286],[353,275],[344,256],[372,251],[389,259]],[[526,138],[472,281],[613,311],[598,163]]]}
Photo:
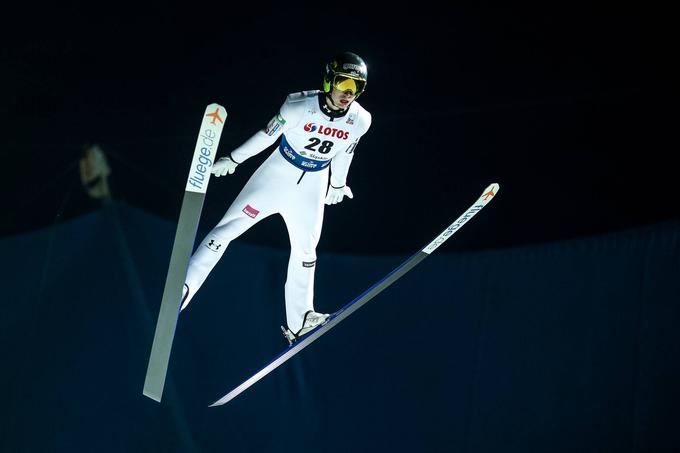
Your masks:
{"label": "entire black and dark blue backdrop behind the ski jumper", "polygon": [[[1,19],[3,451],[677,451],[668,11],[21,8]],[[283,347],[288,238],[280,217],[259,223],[182,318],[164,403],[147,400],[205,106],[228,110],[225,155],[345,50],[368,64],[373,123],[354,199],[326,209],[317,306],[360,294],[488,184],[499,195],[382,302],[206,411]],[[112,168],[104,207],[78,175],[91,144]],[[269,152],[212,179],[201,234]]]}

